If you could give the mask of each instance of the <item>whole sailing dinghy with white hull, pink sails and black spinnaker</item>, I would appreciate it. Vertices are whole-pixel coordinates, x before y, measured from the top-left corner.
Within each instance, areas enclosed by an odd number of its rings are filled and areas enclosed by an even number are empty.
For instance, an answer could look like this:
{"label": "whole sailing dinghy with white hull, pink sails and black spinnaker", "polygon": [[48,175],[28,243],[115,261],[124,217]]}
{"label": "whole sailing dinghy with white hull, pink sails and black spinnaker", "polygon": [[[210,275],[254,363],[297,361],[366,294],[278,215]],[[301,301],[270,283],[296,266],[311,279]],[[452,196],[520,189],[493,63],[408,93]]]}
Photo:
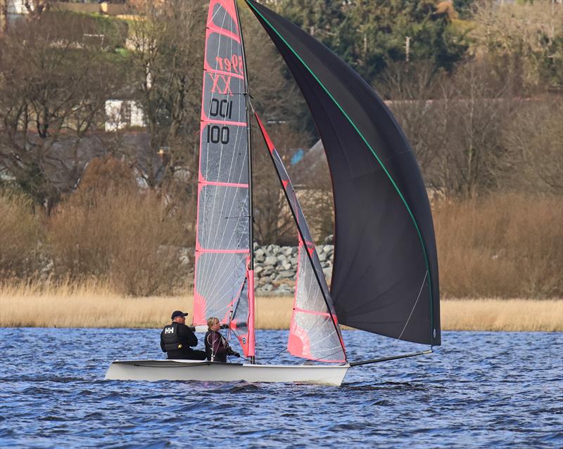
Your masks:
{"label": "whole sailing dinghy with white hull, pink sails and black spinnaker", "polygon": [[[415,156],[381,99],[296,25],[246,0],[295,77],[327,155],[335,206],[329,289],[305,215],[258,115],[298,230],[287,351],[303,365],[260,364],[254,315],[251,97],[235,0],[210,0],[205,35],[194,325],[214,316],[245,363],[115,360],[106,379],[305,382],[340,385],[350,367],[431,353],[441,344],[431,209]],[[340,325],[430,349],[348,360]],[[317,364],[315,364],[317,363]]]}

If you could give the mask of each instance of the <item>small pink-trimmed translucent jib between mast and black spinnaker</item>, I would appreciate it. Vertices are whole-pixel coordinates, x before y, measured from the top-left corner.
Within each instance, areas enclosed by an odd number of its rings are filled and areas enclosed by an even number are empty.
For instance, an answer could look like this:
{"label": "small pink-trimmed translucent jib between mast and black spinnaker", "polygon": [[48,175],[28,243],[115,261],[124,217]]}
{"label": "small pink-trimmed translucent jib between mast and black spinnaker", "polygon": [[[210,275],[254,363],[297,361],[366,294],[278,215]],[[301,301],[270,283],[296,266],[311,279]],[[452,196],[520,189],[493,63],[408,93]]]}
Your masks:
{"label": "small pink-trimmed translucent jib between mast and black spinnaker", "polygon": [[255,117],[299,231],[297,280],[287,349],[293,356],[343,363],[346,350],[340,327],[303,210],[274,143],[258,115]]}

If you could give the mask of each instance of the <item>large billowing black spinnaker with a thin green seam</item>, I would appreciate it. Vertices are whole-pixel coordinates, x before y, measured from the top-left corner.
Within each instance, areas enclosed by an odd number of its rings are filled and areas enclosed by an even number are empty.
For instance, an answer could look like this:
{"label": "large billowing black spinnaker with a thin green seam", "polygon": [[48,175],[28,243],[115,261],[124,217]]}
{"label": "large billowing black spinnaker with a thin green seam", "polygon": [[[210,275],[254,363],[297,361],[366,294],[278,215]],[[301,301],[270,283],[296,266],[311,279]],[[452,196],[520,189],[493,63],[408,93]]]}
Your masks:
{"label": "large billowing black spinnaker with a thin green seam", "polygon": [[336,223],[331,297],[339,323],[441,344],[434,225],[403,131],[372,87],[329,48],[246,2],[295,77],[327,155]]}

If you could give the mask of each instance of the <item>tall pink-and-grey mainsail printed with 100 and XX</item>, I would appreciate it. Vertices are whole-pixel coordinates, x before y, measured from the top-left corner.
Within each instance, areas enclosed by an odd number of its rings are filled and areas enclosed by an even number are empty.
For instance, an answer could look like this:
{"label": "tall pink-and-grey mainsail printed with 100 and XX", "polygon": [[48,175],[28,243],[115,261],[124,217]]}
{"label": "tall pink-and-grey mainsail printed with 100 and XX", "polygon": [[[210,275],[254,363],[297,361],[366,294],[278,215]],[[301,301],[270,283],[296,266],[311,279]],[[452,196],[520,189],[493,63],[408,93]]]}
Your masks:
{"label": "tall pink-and-grey mainsail printed with 100 and XX", "polygon": [[229,325],[254,356],[246,80],[234,0],[210,0],[205,33],[194,325]]}

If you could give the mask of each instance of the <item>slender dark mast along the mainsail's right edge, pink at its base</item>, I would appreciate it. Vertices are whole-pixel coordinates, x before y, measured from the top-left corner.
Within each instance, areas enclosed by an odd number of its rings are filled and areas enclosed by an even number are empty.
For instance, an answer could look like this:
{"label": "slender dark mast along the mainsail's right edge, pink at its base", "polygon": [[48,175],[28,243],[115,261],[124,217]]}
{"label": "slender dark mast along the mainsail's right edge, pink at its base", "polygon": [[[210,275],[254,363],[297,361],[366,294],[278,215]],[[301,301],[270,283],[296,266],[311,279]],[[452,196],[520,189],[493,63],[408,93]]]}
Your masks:
{"label": "slender dark mast along the mainsail's right edge, pink at its base", "polygon": [[250,257],[248,260],[248,346],[253,350],[250,354],[251,363],[255,363],[255,300],[254,300],[254,207],[252,194],[252,140],[251,140],[251,96],[248,89],[248,70],[246,70],[246,51],[244,49],[244,37],[242,32],[241,16],[239,15],[239,6],[234,0],[234,9],[236,11],[236,22],[239,24],[239,35],[241,38],[241,53],[244,67],[244,96],[246,100],[246,150],[248,154],[248,248],[250,249]]}

